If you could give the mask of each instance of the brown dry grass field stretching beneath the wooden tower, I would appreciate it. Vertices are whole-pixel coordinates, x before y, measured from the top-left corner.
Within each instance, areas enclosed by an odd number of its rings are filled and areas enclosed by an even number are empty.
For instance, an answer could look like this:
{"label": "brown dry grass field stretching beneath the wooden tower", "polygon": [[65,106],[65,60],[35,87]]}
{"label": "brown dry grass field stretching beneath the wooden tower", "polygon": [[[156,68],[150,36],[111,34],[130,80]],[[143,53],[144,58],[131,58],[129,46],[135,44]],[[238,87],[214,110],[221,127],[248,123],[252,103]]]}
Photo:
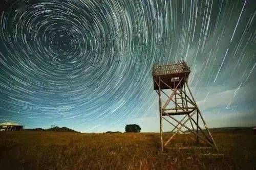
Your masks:
{"label": "brown dry grass field stretching beneath the wooden tower", "polygon": [[161,154],[158,133],[0,132],[0,169],[256,169],[256,135],[213,135],[224,157]]}

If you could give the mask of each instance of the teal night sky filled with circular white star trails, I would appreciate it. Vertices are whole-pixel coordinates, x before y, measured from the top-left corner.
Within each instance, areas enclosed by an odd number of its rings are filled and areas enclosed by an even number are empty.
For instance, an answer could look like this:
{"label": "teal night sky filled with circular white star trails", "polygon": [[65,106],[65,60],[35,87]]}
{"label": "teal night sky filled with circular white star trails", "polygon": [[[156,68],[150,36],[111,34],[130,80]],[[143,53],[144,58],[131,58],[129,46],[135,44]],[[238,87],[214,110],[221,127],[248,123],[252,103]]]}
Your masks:
{"label": "teal night sky filled with circular white star trails", "polygon": [[152,66],[183,59],[210,128],[256,126],[254,0],[0,6],[0,122],[159,132]]}

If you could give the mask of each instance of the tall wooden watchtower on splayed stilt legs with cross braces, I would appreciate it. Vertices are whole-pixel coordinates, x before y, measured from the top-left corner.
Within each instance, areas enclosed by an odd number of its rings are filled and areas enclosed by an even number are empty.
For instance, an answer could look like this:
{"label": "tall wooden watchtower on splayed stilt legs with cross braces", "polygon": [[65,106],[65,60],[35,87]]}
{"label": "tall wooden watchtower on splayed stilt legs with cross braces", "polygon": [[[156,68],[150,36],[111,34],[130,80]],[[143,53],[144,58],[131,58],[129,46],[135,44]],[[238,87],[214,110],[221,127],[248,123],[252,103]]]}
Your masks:
{"label": "tall wooden watchtower on splayed stilt legs with cross braces", "polygon": [[[157,91],[159,98],[161,151],[174,139],[177,133],[183,133],[197,143],[200,140],[205,145],[217,149],[214,138],[212,138],[195,98],[188,87],[189,73],[190,68],[185,61],[153,66],[154,90]],[[165,99],[167,98],[165,102],[162,94],[165,95]],[[177,116],[184,117],[178,119]],[[166,141],[163,140],[162,119],[174,126],[174,129],[169,133],[170,137]],[[205,130],[200,127],[200,121]],[[190,134],[187,134],[187,132]]]}

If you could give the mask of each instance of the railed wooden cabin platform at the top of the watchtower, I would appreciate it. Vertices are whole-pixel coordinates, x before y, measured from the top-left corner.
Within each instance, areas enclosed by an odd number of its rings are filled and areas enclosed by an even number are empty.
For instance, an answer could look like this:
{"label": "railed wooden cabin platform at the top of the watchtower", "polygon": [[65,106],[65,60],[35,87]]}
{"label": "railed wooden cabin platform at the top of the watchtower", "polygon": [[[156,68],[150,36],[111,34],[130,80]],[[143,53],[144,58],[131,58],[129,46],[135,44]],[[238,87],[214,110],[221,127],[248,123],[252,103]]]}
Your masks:
{"label": "railed wooden cabin platform at the top of the watchtower", "polygon": [[[158,89],[159,79],[161,80],[161,89],[175,88],[175,85],[183,78],[187,79],[190,73],[190,68],[185,61],[170,62],[164,65],[153,66],[154,89]],[[164,82],[164,83],[163,83]],[[179,87],[184,85],[184,81]]]}

